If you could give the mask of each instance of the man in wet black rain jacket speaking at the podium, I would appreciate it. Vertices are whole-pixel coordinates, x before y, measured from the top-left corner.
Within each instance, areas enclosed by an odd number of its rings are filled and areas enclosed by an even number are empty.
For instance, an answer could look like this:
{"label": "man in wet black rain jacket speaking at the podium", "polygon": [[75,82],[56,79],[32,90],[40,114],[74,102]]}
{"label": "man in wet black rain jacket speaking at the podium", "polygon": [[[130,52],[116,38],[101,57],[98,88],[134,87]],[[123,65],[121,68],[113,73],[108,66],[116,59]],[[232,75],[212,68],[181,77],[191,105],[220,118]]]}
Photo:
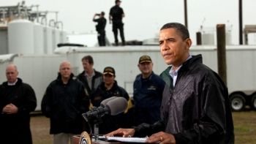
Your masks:
{"label": "man in wet black rain jacket speaking at the podium", "polygon": [[[191,56],[192,40],[181,23],[167,23],[159,34],[165,63],[171,65],[172,85],[165,85],[161,121],[110,134],[148,137],[146,143],[233,144],[234,129],[227,87],[216,72]],[[108,134],[108,135],[110,135]]]}

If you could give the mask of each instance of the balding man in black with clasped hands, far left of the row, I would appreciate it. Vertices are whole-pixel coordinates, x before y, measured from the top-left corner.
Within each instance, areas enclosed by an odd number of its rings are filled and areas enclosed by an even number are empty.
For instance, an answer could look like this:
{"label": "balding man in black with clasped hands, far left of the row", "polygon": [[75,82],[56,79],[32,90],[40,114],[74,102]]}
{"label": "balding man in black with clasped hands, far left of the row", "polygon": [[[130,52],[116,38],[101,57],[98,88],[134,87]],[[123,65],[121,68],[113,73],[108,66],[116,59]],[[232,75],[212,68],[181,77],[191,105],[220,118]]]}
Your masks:
{"label": "balding man in black with clasped hands, far left of the row", "polygon": [[0,140],[3,143],[31,144],[30,115],[37,107],[33,88],[18,77],[18,69],[9,64],[7,82],[0,86]]}

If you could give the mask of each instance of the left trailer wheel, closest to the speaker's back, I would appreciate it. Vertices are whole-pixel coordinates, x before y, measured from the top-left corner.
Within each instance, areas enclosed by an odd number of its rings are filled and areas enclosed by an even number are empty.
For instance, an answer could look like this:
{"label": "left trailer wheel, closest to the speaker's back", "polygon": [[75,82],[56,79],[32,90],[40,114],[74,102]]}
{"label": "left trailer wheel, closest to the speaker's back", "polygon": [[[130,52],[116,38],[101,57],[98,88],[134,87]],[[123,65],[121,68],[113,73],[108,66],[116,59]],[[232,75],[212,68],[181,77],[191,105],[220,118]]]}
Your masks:
{"label": "left trailer wheel, closest to the speaker's back", "polygon": [[230,96],[231,108],[233,111],[242,111],[245,107],[245,99],[241,94],[232,94]]}

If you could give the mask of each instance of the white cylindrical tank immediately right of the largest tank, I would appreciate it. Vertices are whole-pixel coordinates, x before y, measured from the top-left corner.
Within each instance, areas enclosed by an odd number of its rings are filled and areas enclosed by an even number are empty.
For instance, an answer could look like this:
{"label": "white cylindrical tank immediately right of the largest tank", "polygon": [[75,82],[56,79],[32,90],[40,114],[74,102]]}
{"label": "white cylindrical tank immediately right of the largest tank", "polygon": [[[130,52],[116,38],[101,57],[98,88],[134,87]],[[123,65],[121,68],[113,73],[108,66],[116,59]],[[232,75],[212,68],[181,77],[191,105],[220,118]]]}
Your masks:
{"label": "white cylindrical tank immediately right of the largest tank", "polygon": [[44,27],[39,23],[34,23],[34,53],[43,54],[44,52]]}

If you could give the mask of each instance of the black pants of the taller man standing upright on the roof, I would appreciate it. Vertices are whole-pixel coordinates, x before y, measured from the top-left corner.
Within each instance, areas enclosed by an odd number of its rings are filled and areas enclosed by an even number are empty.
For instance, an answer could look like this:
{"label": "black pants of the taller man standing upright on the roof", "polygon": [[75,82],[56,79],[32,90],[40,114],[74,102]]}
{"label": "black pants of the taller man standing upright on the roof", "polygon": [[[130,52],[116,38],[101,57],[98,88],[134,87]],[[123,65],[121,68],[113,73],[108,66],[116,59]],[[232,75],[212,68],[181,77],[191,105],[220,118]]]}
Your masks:
{"label": "black pants of the taller man standing upright on the roof", "polygon": [[114,33],[116,45],[118,45],[118,29],[120,31],[120,37],[121,37],[122,45],[125,45],[124,23],[113,21],[113,33]]}

